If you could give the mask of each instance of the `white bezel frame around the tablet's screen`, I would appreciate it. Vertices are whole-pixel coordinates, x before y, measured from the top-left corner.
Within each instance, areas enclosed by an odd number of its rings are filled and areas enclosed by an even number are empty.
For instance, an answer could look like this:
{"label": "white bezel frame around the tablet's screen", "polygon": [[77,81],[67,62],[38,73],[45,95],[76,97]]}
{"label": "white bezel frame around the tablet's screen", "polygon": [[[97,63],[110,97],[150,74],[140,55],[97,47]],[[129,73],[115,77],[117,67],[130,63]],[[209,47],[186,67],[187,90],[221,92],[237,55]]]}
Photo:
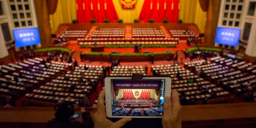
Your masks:
{"label": "white bezel frame around the tablet's screen", "polygon": [[[105,78],[105,100],[106,100],[106,116],[110,118],[162,118],[162,116],[113,116],[112,115],[112,99],[111,99],[111,79],[132,79],[131,76],[107,76]],[[166,79],[165,97],[171,97],[172,78],[170,76],[144,76],[142,79]]]}

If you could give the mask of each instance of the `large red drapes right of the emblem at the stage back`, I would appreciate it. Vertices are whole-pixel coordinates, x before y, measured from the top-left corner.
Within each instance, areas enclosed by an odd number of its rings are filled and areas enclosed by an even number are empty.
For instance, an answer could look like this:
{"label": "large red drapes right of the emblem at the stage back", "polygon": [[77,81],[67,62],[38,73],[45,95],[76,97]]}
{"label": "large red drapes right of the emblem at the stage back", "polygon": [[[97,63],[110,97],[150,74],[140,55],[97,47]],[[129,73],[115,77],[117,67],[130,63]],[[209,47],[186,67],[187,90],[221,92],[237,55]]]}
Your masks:
{"label": "large red drapes right of the emblem at the stage back", "polygon": [[[158,3],[159,8],[157,7]],[[162,22],[163,19],[167,19],[168,22],[177,22],[178,16],[179,0],[145,0],[139,15],[139,21],[148,22],[149,19],[154,19],[154,22]]]}

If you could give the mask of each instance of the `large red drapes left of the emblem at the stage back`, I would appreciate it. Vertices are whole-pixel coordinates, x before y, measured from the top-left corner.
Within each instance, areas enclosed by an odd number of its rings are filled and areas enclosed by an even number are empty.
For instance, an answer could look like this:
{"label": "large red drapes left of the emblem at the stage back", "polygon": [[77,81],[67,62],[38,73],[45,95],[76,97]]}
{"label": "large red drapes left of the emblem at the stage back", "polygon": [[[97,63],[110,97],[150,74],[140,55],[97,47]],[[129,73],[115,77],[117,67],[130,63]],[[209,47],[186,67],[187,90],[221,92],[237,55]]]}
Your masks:
{"label": "large red drapes left of the emblem at the stage back", "polygon": [[[91,19],[96,22],[117,22],[119,19],[112,0],[76,0],[77,20],[79,23],[88,23]],[[106,3],[106,8],[105,8]],[[93,5],[91,8],[91,4]],[[99,7],[98,7],[99,4]]]}

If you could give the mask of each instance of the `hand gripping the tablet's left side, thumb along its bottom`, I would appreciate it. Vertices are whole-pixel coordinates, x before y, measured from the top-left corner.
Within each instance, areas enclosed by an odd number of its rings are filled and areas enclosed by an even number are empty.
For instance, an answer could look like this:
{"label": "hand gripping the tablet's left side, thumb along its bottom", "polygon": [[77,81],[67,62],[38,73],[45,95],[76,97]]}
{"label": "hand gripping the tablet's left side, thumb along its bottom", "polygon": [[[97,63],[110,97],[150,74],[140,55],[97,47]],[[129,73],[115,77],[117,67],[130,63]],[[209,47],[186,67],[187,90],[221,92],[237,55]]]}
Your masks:
{"label": "hand gripping the tablet's left side, thumb along its bottom", "polygon": [[131,121],[131,118],[122,118],[119,121],[112,122],[106,118],[105,106],[104,106],[105,89],[99,93],[97,112],[94,114],[94,127],[95,128],[121,128],[127,122]]}

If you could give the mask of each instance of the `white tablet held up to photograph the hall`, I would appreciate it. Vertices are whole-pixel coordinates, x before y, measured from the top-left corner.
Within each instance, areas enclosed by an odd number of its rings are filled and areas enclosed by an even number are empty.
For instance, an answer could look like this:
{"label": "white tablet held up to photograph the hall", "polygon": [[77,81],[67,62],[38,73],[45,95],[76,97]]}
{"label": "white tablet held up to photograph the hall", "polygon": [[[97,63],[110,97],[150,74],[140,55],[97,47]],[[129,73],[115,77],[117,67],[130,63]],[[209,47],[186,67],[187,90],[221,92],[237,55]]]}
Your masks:
{"label": "white tablet held up to photograph the hall", "polygon": [[170,76],[105,78],[106,115],[110,118],[161,118],[164,97],[171,96]]}

